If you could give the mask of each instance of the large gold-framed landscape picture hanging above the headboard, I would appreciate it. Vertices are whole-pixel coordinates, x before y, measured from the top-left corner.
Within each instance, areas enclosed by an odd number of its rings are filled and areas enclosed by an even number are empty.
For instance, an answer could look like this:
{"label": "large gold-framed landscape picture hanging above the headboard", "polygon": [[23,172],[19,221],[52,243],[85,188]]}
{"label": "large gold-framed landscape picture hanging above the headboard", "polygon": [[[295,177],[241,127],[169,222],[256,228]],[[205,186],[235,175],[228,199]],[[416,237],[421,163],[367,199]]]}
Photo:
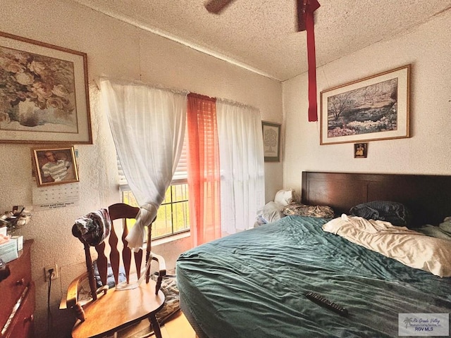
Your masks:
{"label": "large gold-framed landscape picture hanging above the headboard", "polygon": [[410,65],[321,92],[320,144],[409,137]]}

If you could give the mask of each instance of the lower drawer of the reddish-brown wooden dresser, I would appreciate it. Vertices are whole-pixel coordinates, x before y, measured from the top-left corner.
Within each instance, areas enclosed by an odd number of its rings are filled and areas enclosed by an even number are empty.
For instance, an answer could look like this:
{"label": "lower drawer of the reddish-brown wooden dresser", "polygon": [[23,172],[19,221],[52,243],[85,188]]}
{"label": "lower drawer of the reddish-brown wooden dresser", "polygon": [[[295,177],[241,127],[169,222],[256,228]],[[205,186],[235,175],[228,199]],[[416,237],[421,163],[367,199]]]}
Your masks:
{"label": "lower drawer of the reddish-brown wooden dresser", "polygon": [[26,288],[20,306],[14,314],[11,325],[4,332],[5,338],[32,338],[35,335],[35,283]]}

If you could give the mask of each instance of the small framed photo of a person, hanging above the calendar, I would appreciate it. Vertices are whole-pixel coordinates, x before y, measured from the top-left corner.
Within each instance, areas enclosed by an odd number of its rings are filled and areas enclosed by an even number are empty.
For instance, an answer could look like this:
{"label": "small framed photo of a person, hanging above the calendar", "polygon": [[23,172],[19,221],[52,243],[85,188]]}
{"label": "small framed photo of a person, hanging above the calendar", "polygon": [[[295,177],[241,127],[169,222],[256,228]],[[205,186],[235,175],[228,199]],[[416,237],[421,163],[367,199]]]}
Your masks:
{"label": "small framed photo of a person, hanging above the calendar", "polygon": [[79,182],[73,146],[33,149],[38,187]]}

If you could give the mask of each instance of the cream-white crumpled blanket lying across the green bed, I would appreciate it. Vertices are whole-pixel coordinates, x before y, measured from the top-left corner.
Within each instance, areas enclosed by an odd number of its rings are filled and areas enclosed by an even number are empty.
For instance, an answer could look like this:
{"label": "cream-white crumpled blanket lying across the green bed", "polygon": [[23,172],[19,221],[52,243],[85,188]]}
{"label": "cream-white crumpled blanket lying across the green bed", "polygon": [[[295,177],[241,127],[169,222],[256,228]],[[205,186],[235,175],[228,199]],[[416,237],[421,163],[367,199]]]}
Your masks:
{"label": "cream-white crumpled blanket lying across the green bed", "polygon": [[412,268],[451,277],[451,245],[445,239],[429,237],[381,220],[345,214],[323,225],[323,230]]}

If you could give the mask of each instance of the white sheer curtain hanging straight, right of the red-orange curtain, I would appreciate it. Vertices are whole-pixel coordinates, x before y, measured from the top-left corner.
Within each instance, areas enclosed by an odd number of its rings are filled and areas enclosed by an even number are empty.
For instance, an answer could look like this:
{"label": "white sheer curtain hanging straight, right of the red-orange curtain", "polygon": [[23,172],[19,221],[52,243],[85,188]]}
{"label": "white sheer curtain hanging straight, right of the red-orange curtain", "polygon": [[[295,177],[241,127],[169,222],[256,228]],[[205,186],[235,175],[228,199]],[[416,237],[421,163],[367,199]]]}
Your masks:
{"label": "white sheer curtain hanging straight, right of the red-orange curtain", "polygon": [[264,205],[264,149],[257,108],[216,101],[221,166],[221,230],[253,227]]}

